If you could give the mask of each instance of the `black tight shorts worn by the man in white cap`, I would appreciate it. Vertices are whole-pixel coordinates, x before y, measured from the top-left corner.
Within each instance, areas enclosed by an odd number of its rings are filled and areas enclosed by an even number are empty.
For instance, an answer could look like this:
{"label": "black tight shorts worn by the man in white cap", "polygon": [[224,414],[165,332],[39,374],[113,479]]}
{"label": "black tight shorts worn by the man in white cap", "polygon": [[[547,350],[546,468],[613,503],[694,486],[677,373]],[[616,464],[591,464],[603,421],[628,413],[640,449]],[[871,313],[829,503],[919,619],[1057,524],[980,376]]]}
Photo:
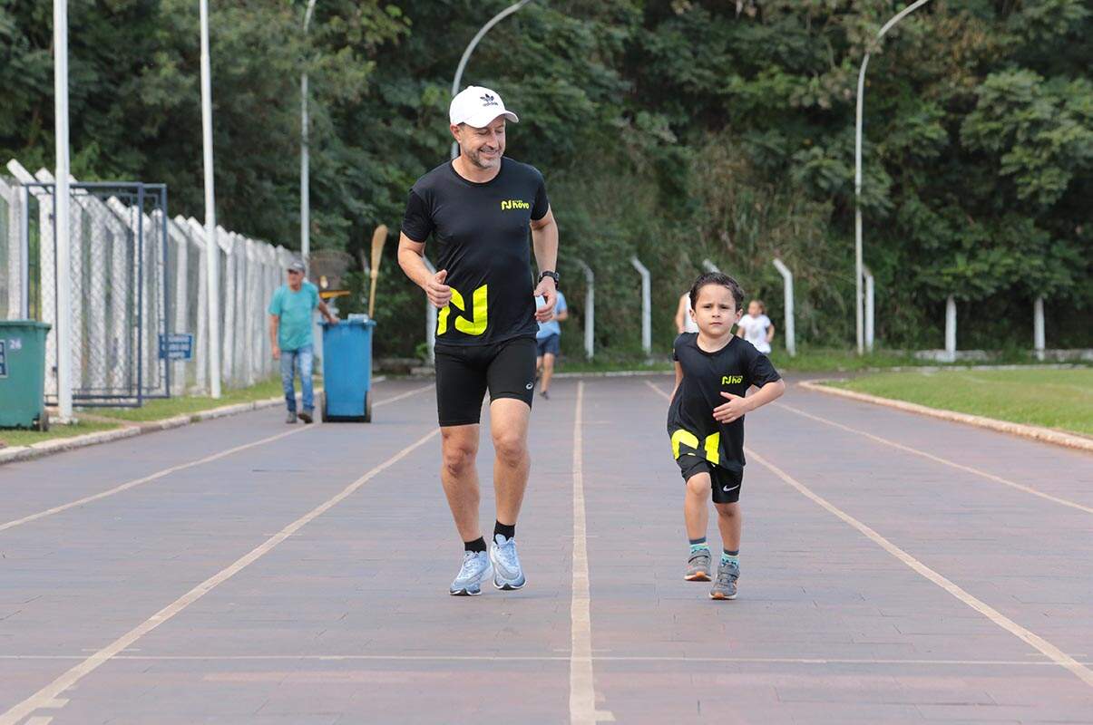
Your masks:
{"label": "black tight shorts worn by the man in white cap", "polygon": [[536,387],[536,338],[495,345],[437,345],[436,411],[440,426],[479,423],[482,397],[515,397],[531,407]]}

